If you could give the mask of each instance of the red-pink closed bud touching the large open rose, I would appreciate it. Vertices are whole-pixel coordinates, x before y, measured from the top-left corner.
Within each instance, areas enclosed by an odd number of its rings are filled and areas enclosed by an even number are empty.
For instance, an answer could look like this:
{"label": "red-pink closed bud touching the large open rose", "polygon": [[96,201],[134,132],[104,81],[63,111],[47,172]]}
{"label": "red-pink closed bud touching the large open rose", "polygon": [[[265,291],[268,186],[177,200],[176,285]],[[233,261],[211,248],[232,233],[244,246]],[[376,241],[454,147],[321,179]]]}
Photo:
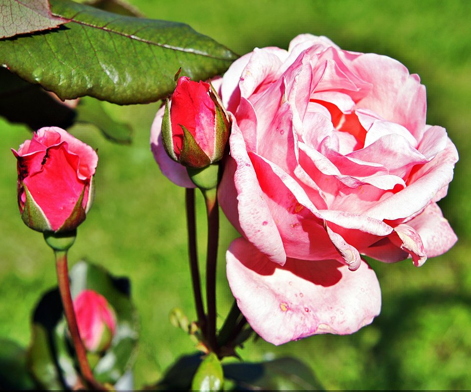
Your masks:
{"label": "red-pink closed bud touching the large open rose", "polygon": [[228,115],[212,86],[180,77],[162,121],[163,146],[170,158],[195,168],[220,161],[229,129]]}

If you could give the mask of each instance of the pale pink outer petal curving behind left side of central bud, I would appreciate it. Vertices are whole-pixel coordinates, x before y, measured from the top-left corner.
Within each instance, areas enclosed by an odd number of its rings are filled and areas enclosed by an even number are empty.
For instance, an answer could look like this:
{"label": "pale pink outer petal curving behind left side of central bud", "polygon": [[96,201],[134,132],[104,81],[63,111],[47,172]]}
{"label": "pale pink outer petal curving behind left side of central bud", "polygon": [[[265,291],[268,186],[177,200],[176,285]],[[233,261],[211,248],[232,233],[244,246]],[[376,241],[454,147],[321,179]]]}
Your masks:
{"label": "pale pink outer petal curving behind left side of central bud", "polygon": [[165,152],[162,144],[162,118],[165,112],[165,107],[161,107],[157,111],[157,115],[154,118],[154,122],[151,127],[151,150],[154,154],[160,170],[163,175],[167,177],[174,184],[183,186],[184,188],[195,188],[188,177],[186,168],[176,161],[173,161]]}

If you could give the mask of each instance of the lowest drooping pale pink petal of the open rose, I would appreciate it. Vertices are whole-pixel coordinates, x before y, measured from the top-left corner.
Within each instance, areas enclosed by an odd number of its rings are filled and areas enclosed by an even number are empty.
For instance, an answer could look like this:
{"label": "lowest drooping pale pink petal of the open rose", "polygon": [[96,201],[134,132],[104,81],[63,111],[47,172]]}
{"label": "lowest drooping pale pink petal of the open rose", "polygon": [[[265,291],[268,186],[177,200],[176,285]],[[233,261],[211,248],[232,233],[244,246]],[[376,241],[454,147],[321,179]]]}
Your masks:
{"label": "lowest drooping pale pink petal of the open rose", "polygon": [[334,260],[269,261],[243,238],[226,254],[227,279],[248,323],[281,345],[321,333],[349,334],[381,310],[378,279],[364,261],[356,272]]}

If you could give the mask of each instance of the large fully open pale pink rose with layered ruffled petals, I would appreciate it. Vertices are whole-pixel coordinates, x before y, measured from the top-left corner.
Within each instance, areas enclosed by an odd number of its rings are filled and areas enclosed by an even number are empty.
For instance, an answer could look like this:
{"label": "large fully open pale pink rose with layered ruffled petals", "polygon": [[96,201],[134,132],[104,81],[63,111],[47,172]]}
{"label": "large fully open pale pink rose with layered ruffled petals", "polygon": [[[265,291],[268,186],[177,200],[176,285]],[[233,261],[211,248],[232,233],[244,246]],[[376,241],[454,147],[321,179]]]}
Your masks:
{"label": "large fully open pale pink rose with layered ruffled petals", "polygon": [[219,201],[243,235],[227,277],[248,323],[276,345],[347,334],[380,313],[360,254],[416,266],[456,235],[436,202],[458,160],[426,125],[426,90],[396,60],[300,35],[225,73],[232,115]]}

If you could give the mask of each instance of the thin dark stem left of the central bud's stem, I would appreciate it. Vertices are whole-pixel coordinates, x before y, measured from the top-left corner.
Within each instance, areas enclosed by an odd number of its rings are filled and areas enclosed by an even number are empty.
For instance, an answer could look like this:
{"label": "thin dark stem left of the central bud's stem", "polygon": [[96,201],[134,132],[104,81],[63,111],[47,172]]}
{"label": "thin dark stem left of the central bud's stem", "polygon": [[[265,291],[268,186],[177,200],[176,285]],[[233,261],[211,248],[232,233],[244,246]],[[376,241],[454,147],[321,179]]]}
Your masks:
{"label": "thin dark stem left of the central bud's stem", "polygon": [[193,283],[193,295],[195,297],[198,324],[202,331],[204,331],[206,315],[204,314],[203,300],[201,296],[200,270],[198,267],[198,253],[196,247],[195,189],[186,188],[185,202],[186,222],[188,228],[188,254],[190,257],[190,272]]}

